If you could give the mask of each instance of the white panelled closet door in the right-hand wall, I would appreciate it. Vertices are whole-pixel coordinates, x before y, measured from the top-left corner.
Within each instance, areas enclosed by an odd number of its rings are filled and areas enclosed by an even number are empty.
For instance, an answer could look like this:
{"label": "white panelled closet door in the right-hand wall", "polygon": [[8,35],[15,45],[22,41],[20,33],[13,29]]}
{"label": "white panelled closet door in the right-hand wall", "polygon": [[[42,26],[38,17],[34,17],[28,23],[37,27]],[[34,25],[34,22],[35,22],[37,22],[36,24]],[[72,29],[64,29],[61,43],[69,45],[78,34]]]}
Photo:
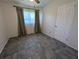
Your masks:
{"label": "white panelled closet door in the right-hand wall", "polygon": [[73,22],[74,4],[67,4],[58,8],[54,37],[65,42]]}

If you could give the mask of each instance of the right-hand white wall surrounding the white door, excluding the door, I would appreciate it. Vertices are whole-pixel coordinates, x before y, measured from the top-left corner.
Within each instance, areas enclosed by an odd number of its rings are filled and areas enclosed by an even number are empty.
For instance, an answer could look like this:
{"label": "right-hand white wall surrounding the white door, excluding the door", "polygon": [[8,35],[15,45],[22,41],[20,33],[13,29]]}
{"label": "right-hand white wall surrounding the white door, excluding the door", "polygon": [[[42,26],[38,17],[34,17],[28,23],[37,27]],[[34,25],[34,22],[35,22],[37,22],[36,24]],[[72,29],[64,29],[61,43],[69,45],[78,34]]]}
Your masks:
{"label": "right-hand white wall surrounding the white door, excluding the door", "polygon": [[[74,2],[75,0],[55,0],[50,4],[44,7],[44,20],[43,20],[43,30],[42,32],[49,35],[50,37],[54,38],[55,32],[55,23],[57,18],[57,11],[58,7],[64,4],[68,4]],[[67,45],[71,46],[72,48],[77,50],[77,7],[75,10],[74,21],[70,30],[70,34],[68,37],[68,41],[66,42]],[[76,29],[75,29],[76,28]],[[73,29],[73,30],[72,30]],[[73,32],[73,34],[71,33]],[[71,35],[72,34],[72,35]],[[61,40],[60,40],[61,41]]]}

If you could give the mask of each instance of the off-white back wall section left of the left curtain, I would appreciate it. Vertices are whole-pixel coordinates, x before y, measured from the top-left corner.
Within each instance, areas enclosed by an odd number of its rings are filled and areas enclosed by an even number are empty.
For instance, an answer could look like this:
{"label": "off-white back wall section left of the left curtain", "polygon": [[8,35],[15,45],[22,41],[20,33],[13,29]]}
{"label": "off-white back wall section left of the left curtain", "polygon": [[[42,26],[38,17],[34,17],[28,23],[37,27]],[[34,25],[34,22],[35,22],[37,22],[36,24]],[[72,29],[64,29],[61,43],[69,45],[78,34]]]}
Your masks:
{"label": "off-white back wall section left of the left curtain", "polygon": [[8,38],[18,35],[18,23],[16,8],[9,3],[1,3],[3,9],[3,16],[7,23]]}

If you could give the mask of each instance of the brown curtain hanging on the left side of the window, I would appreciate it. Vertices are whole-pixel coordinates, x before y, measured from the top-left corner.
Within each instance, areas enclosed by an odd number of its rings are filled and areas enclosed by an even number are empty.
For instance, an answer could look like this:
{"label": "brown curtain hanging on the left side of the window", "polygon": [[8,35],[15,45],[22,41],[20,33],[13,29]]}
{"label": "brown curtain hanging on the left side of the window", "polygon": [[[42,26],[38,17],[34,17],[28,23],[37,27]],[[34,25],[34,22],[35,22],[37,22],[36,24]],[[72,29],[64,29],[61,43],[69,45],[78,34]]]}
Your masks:
{"label": "brown curtain hanging on the left side of the window", "polygon": [[24,36],[26,35],[26,29],[24,24],[23,9],[16,7],[16,10],[18,16],[18,36]]}

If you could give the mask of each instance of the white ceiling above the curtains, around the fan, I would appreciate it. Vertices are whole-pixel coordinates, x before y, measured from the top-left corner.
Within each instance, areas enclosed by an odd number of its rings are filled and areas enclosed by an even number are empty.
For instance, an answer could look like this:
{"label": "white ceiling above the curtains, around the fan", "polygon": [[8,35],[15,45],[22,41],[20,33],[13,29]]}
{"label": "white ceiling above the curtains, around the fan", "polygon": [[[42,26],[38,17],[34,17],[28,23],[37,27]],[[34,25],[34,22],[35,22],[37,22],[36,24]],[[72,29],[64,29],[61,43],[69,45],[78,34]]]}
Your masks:
{"label": "white ceiling above the curtains, around the fan", "polygon": [[8,2],[11,3],[12,5],[20,5],[20,6],[26,6],[26,7],[44,7],[47,5],[49,2],[52,0],[40,0],[40,4],[37,4],[36,2],[31,2],[30,0],[0,0],[2,2]]}

